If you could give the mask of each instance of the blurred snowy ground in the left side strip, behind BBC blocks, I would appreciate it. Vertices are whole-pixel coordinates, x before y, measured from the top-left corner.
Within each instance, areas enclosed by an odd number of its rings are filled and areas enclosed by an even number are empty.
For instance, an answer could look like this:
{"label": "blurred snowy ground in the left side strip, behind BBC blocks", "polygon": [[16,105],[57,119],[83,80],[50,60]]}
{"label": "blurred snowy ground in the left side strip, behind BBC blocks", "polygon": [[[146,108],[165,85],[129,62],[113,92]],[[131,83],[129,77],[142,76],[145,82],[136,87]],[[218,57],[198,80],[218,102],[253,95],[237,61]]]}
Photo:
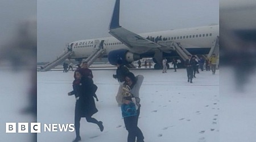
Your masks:
{"label": "blurred snowy ground in the left side strip, behind BBC blocks", "polygon": [[[36,122],[36,116],[24,112],[30,107],[31,72],[0,70],[0,141],[34,142],[32,133],[5,133],[5,123]],[[36,94],[34,94],[36,95]],[[16,124],[18,126],[18,124]],[[16,130],[18,132],[18,130]]]}

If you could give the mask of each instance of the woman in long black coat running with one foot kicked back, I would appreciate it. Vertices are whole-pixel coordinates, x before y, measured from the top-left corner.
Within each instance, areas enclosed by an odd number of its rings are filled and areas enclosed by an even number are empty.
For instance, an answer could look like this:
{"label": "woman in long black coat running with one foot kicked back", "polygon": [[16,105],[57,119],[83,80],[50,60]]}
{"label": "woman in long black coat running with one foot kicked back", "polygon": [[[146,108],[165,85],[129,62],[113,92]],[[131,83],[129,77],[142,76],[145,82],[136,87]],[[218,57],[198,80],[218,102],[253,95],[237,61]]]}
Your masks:
{"label": "woman in long black coat running with one foot kicked back", "polygon": [[104,127],[101,121],[92,118],[92,115],[98,112],[93,95],[95,94],[95,89],[93,85],[92,78],[82,77],[79,70],[75,72],[75,80],[73,81],[73,91],[69,92],[68,95],[75,94],[76,97],[76,107],[75,107],[75,130],[76,139],[73,142],[80,141],[80,120],[81,118],[86,118],[87,122],[95,123],[103,131]]}

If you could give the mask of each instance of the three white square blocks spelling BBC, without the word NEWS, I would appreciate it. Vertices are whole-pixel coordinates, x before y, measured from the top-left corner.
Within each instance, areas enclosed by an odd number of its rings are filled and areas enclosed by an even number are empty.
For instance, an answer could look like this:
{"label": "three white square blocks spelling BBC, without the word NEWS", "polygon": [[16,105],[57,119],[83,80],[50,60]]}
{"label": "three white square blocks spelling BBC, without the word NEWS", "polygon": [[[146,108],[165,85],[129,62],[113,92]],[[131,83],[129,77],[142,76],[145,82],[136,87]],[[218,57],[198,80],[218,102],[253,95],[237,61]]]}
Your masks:
{"label": "three white square blocks spelling BBC, without the word NEWS", "polygon": [[[16,123],[5,123],[6,133],[16,133]],[[18,133],[28,133],[30,128],[31,133],[41,133],[41,123],[18,123]]]}

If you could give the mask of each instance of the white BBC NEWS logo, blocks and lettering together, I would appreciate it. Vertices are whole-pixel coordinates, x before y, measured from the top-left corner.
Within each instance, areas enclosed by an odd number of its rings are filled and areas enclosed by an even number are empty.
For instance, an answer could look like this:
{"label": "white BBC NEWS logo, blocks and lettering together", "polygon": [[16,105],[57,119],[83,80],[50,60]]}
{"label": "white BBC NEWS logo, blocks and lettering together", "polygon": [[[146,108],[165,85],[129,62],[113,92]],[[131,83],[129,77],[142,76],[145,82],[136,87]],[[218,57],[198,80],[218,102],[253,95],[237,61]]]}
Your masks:
{"label": "white BBC NEWS logo, blocks and lettering together", "polygon": [[[17,125],[18,124],[18,125]],[[5,123],[6,133],[41,133],[43,132],[73,132],[75,131],[74,124],[43,124],[41,123]]]}

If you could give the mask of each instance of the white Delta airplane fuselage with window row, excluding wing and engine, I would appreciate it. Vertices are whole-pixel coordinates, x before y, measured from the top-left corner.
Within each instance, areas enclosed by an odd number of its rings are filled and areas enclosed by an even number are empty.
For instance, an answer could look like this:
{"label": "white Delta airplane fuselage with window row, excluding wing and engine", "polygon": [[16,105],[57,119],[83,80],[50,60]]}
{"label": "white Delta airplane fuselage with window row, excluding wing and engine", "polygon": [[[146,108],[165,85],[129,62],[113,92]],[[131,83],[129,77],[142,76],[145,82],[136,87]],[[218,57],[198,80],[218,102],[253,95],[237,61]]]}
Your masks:
{"label": "white Delta airplane fuselage with window row, excluding wing and engine", "polygon": [[[177,30],[159,31],[159,32],[149,32],[144,34],[139,34],[140,36],[147,38],[148,40],[165,40],[165,41],[175,41],[180,43],[184,48],[188,49],[208,49],[209,51],[212,46],[212,42],[219,35],[219,26],[203,26],[203,27],[193,27],[193,28],[182,28]],[[71,59],[84,59],[89,57],[96,48],[96,40],[104,40],[105,54],[107,56],[110,51],[117,49],[127,49],[130,52],[136,53],[133,49],[128,48],[121,41],[115,39],[115,37],[102,37],[97,39],[79,40],[70,43],[72,51],[74,54]],[[148,51],[140,51],[139,54],[146,53]],[[201,52],[200,52],[201,53]]]}

